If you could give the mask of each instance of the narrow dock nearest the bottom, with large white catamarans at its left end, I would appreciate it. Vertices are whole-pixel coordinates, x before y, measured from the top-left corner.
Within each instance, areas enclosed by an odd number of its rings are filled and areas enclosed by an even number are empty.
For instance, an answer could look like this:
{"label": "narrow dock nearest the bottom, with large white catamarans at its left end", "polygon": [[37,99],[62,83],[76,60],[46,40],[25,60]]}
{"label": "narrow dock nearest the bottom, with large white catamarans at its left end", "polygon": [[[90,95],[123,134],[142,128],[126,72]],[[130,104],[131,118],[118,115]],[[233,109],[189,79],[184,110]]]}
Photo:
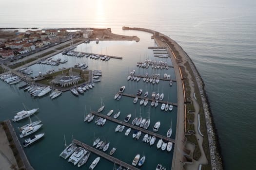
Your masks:
{"label": "narrow dock nearest the bottom, with large white catamarans at its left end", "polygon": [[82,143],[79,140],[73,139],[73,143],[75,143],[76,145],[78,145],[78,146],[80,146],[82,148],[85,148],[86,150],[88,150],[88,151],[90,151],[92,153],[97,154],[100,157],[103,157],[103,158],[107,159],[110,162],[116,163],[119,166],[122,166],[123,168],[128,168],[129,170],[139,170],[138,168],[136,168],[136,167],[134,167],[134,166],[132,166],[130,164],[127,164],[127,163],[125,163],[125,162],[123,162],[123,161],[121,161],[121,160],[119,160],[119,159],[117,159],[117,158],[115,158],[113,156],[110,156],[107,153],[103,153],[103,152],[101,152],[101,151],[99,151],[99,150],[97,150],[97,149],[95,149],[95,148],[93,148],[93,147],[91,147],[91,146],[89,146],[89,145],[87,145],[85,143]]}

